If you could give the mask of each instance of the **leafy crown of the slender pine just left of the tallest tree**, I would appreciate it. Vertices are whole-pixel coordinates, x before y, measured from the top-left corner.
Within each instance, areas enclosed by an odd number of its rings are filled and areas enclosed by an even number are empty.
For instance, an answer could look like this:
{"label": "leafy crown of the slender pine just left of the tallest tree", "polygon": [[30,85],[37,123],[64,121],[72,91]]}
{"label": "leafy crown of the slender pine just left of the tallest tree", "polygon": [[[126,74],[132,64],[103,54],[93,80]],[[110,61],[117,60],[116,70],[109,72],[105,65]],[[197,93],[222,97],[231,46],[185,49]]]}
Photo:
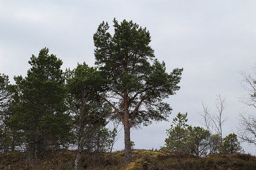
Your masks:
{"label": "leafy crown of the slender pine just left of the tallest tree", "polygon": [[96,67],[89,67],[85,63],[78,64],[76,69],[67,70],[65,75],[66,104],[72,114],[75,129],[86,132],[90,130],[84,128],[105,124],[108,108],[105,107],[104,100],[95,95],[100,90],[101,85],[98,84],[102,80]]}

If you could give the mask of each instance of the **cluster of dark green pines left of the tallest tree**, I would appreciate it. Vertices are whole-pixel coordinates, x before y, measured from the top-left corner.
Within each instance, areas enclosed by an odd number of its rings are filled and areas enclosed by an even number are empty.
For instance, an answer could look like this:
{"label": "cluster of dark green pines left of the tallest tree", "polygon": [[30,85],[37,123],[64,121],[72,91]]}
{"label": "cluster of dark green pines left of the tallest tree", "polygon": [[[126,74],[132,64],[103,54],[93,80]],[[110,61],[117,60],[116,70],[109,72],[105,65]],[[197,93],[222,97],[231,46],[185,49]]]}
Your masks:
{"label": "cluster of dark green pines left of the tallest tree", "polygon": [[85,74],[96,69],[84,63],[63,73],[63,62],[48,52],[32,55],[27,76],[15,76],[15,84],[0,75],[0,152],[26,151],[37,159],[77,143],[89,152],[109,150],[116,134],[105,128],[109,108],[82,91],[89,86]]}

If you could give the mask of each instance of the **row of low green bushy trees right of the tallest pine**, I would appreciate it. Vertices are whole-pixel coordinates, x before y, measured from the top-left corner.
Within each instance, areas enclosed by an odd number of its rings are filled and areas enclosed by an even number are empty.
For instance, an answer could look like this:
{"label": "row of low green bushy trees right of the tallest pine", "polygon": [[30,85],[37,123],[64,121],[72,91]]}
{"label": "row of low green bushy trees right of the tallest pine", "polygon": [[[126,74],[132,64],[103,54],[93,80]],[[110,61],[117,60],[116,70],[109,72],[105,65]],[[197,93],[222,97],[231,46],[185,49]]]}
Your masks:
{"label": "row of low green bushy trees right of the tallest pine", "polygon": [[162,151],[187,152],[196,156],[210,154],[233,154],[242,152],[237,135],[230,133],[225,138],[220,134],[210,133],[200,126],[192,127],[187,124],[187,113],[178,113],[173,119],[170,129],[167,129],[168,138]]}

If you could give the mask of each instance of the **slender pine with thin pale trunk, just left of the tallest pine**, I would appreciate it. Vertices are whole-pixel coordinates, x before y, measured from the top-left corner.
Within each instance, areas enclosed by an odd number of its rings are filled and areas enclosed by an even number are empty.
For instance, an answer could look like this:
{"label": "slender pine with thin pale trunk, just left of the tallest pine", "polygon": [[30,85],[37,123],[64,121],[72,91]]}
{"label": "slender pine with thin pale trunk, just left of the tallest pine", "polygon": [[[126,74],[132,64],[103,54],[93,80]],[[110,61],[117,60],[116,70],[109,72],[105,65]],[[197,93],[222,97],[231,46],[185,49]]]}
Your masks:
{"label": "slender pine with thin pale trunk, just left of the tallest pine", "polygon": [[[106,125],[106,111],[100,97],[94,95],[101,88],[101,76],[96,67],[86,63],[65,72],[67,79],[67,105],[73,117],[76,135],[77,155],[75,168],[79,169],[80,154],[86,151],[102,151],[103,131]],[[97,139],[96,139],[97,138]],[[100,139],[101,138],[101,139]]]}

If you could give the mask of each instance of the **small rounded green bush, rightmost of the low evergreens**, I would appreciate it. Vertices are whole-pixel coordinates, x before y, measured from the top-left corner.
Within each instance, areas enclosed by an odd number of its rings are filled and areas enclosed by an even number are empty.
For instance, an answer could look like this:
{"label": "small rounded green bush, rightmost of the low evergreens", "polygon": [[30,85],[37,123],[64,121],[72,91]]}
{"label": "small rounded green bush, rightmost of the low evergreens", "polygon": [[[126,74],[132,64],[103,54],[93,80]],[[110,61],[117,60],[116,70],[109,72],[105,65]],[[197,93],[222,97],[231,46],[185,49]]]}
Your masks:
{"label": "small rounded green bush, rightmost of the low evergreens", "polygon": [[237,135],[230,133],[228,136],[222,139],[221,152],[224,154],[233,154],[241,151],[242,147],[238,142]]}

